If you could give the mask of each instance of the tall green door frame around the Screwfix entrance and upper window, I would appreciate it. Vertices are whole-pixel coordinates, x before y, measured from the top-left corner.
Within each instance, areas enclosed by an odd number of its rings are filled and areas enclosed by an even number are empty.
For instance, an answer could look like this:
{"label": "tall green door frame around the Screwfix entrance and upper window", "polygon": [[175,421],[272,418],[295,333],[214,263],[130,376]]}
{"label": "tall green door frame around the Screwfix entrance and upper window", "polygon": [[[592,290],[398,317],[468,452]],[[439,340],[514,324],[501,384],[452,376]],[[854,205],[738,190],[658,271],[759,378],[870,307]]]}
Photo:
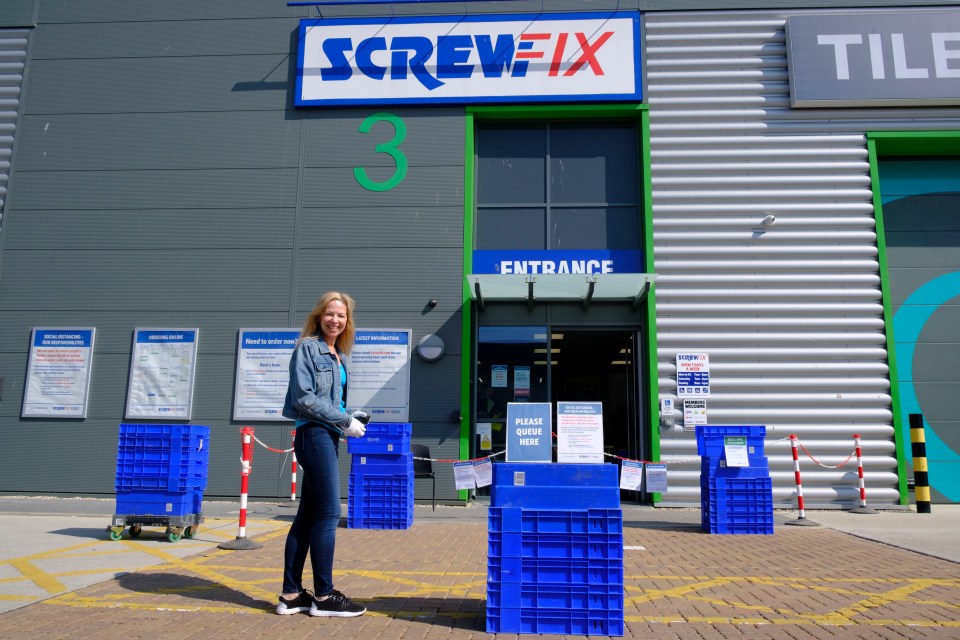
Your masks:
{"label": "tall green door frame around the Screwfix entrance and upper window", "polygon": [[[467,107],[465,113],[464,142],[464,178],[463,178],[463,294],[461,327],[460,362],[460,415],[464,417],[460,424],[460,459],[470,456],[470,432],[473,428],[473,413],[470,405],[470,380],[473,377],[473,329],[476,318],[471,302],[470,289],[466,276],[473,271],[473,223],[475,207],[476,180],[476,140],[475,124],[478,120],[548,120],[548,119],[603,120],[611,118],[635,118],[640,132],[640,171],[639,182],[643,189],[643,258],[644,269],[653,273],[653,185],[650,178],[650,122],[648,107],[645,104],[611,105],[535,105],[535,106],[490,106]],[[647,323],[647,394],[648,424],[658,423],[657,407],[657,325],[656,325],[656,284],[650,284],[646,299]],[[651,459],[660,458],[660,432],[651,427]],[[467,492],[460,491],[461,500],[467,499]],[[653,494],[659,501],[659,494]]]}

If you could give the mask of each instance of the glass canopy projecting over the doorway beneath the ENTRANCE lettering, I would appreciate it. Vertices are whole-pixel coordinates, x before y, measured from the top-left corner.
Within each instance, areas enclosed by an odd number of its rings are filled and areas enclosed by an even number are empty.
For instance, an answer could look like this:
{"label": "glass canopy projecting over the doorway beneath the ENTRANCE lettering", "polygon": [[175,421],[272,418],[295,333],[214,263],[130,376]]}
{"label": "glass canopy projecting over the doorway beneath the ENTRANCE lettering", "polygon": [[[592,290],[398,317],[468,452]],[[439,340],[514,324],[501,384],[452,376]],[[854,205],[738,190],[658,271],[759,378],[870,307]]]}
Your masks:
{"label": "glass canopy projecting over the doorway beneath the ENTRANCE lettering", "polygon": [[483,309],[486,302],[593,301],[629,302],[636,309],[656,279],[653,273],[472,273],[466,276],[470,297]]}

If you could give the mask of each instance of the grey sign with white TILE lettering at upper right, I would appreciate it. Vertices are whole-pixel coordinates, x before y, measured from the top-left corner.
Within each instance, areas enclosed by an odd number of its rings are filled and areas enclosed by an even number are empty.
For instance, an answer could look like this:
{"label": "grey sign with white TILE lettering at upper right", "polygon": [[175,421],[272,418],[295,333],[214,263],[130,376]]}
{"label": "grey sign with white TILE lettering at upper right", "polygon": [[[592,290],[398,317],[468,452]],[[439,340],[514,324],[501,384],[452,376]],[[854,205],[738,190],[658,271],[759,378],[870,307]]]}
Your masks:
{"label": "grey sign with white TILE lettering at upper right", "polygon": [[960,11],[787,18],[793,107],[960,104]]}

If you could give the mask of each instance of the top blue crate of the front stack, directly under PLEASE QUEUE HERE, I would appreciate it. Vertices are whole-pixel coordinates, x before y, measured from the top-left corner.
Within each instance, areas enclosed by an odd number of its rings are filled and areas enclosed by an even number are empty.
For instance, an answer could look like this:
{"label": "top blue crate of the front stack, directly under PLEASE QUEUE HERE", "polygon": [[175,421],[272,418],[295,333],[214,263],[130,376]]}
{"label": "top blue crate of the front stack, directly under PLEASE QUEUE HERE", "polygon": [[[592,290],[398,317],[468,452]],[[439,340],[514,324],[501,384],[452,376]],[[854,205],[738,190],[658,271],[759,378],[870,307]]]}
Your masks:
{"label": "top blue crate of the front stack, directly under PLEASE QUEUE HERE", "polygon": [[491,507],[619,509],[619,468],[613,464],[493,465]]}

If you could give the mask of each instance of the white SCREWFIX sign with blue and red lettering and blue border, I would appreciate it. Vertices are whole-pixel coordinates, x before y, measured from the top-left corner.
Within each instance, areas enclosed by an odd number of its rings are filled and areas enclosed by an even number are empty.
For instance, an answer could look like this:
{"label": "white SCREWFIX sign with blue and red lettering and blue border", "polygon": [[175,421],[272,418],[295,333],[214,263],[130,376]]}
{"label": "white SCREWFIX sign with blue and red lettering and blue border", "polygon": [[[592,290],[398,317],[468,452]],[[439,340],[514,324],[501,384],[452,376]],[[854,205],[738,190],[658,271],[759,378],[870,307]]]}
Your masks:
{"label": "white SCREWFIX sign with blue and red lettering and blue border", "polygon": [[305,19],[295,104],[642,100],[634,12]]}

